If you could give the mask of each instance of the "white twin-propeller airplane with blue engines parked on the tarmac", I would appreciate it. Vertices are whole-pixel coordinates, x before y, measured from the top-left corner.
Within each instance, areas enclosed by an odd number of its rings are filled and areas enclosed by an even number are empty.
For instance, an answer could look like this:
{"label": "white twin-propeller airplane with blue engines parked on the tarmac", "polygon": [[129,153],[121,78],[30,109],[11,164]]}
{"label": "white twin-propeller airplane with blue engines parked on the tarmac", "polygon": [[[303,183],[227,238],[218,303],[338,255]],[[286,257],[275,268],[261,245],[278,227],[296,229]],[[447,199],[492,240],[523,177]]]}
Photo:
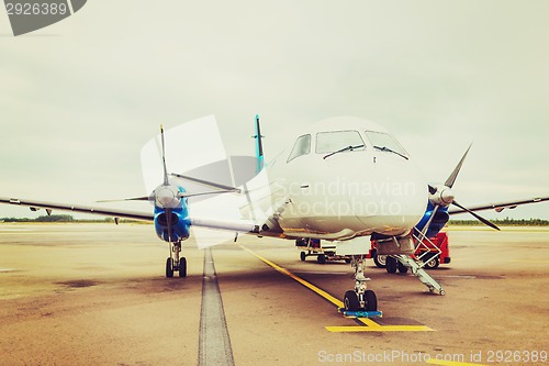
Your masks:
{"label": "white twin-propeller airplane with blue engines parked on the tarmac", "polygon": [[[208,123],[212,119],[210,117],[194,122]],[[160,126],[159,136],[153,138],[149,146],[160,146],[163,181],[148,196],[124,199],[149,201],[154,204],[153,212],[2,197],[0,203],[45,209],[48,214],[52,210],[68,210],[113,217],[116,223],[120,218],[152,221],[158,237],[170,246],[166,277],[173,277],[175,273],[179,277],[187,276],[187,259],[180,253],[181,242],[191,236],[191,228],[258,237],[329,241],[337,244],[338,254],[351,257],[355,270],[355,287],[344,296],[345,310],[377,311],[377,296],[367,288],[369,279],[365,276],[370,240],[377,240],[378,254],[391,255],[413,266],[413,273],[424,274],[423,279],[417,276],[429,290],[436,288],[444,295],[441,287],[425,282],[429,276],[422,271],[422,264],[411,260],[417,242],[436,236],[453,213],[469,212],[482,223],[500,230],[475,211],[501,211],[549,200],[549,197],[541,197],[466,208],[455,199],[452,187],[471,146],[444,184],[430,185],[386,129],[360,118],[338,117],[307,126],[269,164],[264,160],[258,115],[255,127],[256,156],[251,157],[255,171],[246,174],[238,187],[201,177],[200,169],[169,171],[165,131]],[[221,163],[231,165],[229,159]],[[215,164],[212,166],[219,168]],[[192,184],[210,190],[192,192],[186,189]],[[191,201],[211,196],[237,196],[240,217],[194,215],[192,206],[199,203]],[[450,210],[451,206],[458,209]]]}

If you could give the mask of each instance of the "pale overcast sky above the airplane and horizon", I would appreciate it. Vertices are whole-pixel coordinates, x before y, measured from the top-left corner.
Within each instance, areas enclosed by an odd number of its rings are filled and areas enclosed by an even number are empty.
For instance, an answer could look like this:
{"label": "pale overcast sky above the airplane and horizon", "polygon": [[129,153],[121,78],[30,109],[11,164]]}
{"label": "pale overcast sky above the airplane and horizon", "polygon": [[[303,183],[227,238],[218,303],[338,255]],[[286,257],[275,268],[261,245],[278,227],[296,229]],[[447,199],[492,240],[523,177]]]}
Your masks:
{"label": "pale overcast sky above the airplane and horizon", "polygon": [[[267,159],[293,129],[357,115],[429,181],[474,142],[462,204],[548,196],[548,13],[546,0],[90,0],[13,37],[0,12],[0,196],[142,196],[139,151],[160,123],[215,114],[228,151],[253,154],[256,113]],[[549,219],[549,203],[506,214]]]}

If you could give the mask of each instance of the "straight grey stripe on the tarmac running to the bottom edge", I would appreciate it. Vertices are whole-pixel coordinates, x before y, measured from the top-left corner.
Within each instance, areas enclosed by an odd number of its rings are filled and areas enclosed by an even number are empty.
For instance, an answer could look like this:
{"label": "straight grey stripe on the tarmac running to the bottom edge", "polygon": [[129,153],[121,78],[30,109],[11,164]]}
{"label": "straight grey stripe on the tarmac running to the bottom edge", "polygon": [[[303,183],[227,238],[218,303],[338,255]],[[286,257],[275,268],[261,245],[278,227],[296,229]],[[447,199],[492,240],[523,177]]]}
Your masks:
{"label": "straight grey stripe on the tarmac running to the bottom edge", "polygon": [[202,307],[200,310],[199,366],[234,366],[225,310],[221,298],[212,251],[204,251],[202,277]]}

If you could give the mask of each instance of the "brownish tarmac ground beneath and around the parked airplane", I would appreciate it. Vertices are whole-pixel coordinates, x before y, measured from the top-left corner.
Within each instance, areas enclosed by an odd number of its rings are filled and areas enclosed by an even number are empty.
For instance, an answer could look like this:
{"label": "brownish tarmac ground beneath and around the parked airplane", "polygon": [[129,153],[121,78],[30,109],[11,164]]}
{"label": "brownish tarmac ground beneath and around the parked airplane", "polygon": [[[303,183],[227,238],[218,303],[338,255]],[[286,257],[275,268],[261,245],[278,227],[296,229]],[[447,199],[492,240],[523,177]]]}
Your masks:
{"label": "brownish tarmac ground beneath and around the parked airplane", "polygon": [[548,364],[549,229],[448,233],[446,296],[370,262],[383,317],[357,320],[337,312],[350,265],[291,241],[190,240],[166,278],[149,224],[1,223],[0,365]]}

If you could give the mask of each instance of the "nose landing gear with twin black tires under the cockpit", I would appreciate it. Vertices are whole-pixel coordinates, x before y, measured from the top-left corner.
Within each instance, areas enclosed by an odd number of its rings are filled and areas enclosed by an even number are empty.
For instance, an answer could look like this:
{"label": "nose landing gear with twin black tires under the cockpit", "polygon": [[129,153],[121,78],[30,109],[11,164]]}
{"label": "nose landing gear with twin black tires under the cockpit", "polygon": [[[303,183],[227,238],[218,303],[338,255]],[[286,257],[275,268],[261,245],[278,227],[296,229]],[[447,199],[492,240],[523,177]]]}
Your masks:
{"label": "nose landing gear with twin black tires under the cockpit", "polygon": [[367,290],[365,277],[366,256],[352,255],[351,266],[355,268],[355,289],[345,292],[345,311],[378,311],[376,292]]}

